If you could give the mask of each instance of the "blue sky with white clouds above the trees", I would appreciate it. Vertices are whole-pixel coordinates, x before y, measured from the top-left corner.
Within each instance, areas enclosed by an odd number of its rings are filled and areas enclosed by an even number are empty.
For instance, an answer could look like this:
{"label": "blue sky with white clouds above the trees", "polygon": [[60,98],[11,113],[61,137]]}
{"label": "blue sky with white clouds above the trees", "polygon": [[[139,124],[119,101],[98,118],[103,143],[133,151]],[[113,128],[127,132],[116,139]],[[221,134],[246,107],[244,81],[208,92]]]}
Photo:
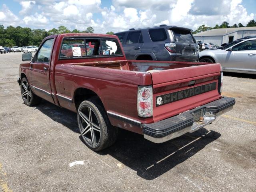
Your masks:
{"label": "blue sky with white clouds above the trees", "polygon": [[256,20],[256,0],[0,0],[0,25],[50,30],[92,26],[95,33],[202,24],[231,26]]}

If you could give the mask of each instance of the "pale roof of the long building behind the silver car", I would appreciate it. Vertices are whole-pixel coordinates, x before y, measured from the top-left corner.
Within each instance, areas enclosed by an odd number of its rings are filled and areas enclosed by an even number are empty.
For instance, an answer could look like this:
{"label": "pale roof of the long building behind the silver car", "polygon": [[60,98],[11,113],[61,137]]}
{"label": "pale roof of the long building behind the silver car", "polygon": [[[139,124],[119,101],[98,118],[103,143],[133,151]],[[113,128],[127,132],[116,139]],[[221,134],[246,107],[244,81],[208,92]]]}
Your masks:
{"label": "pale roof of the long building behind the silver car", "polygon": [[194,34],[193,36],[224,36],[229,33],[233,33],[236,31],[248,31],[248,30],[256,30],[256,27],[236,27],[236,28],[223,28],[223,29],[211,29],[208,31],[200,32]]}

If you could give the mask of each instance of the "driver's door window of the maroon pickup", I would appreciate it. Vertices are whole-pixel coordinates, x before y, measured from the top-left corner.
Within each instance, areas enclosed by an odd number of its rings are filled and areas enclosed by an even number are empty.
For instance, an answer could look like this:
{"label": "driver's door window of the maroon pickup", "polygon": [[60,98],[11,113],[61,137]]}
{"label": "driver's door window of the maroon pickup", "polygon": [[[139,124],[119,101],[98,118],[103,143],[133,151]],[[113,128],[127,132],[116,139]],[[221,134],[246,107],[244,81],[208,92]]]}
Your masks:
{"label": "driver's door window of the maroon pickup", "polygon": [[48,39],[44,42],[44,44],[41,46],[40,50],[38,51],[36,61],[49,63],[53,42],[54,42],[54,39]]}

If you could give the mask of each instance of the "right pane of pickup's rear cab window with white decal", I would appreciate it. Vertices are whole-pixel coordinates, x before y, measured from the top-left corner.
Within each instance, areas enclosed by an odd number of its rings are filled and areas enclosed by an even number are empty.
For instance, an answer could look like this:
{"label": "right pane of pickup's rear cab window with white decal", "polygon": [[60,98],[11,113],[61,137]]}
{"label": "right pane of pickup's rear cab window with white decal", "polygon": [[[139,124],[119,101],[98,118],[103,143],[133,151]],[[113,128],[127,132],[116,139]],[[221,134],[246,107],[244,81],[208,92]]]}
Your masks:
{"label": "right pane of pickup's rear cab window with white decal", "polygon": [[117,40],[113,39],[103,39],[102,40],[102,55],[110,56],[110,55],[122,55],[120,46]]}

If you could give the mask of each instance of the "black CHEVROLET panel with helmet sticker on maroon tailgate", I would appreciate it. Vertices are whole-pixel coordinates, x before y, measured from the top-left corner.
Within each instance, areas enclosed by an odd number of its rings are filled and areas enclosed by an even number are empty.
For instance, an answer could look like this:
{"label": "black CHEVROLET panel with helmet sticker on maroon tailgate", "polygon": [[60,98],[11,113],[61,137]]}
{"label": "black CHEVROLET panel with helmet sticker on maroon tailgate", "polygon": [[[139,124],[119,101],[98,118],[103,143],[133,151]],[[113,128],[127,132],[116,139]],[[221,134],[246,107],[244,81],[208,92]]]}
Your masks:
{"label": "black CHEVROLET panel with helmet sticker on maroon tailgate", "polygon": [[216,89],[216,82],[198,86],[198,87],[193,87],[190,89],[185,89],[173,93],[168,93],[164,95],[160,95],[156,97],[156,106],[161,106],[164,104],[168,104],[174,101],[182,100],[188,97],[192,97],[194,95],[202,94],[208,91],[212,91]]}

